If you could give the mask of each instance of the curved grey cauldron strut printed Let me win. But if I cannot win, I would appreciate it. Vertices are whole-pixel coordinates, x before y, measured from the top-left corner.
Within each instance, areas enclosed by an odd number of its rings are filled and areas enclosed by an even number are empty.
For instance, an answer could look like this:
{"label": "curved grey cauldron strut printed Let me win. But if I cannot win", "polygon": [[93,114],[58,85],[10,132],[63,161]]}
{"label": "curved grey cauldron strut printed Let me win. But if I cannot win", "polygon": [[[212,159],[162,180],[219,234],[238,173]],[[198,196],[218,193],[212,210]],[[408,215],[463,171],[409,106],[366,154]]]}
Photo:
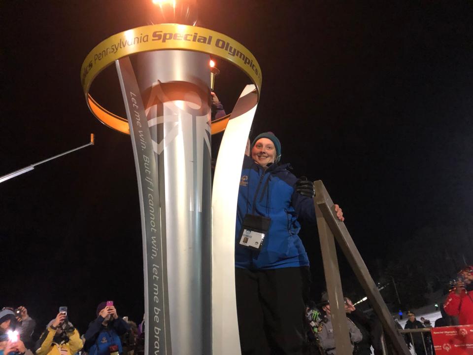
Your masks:
{"label": "curved grey cauldron strut printed Let me win. But if I cannot win", "polygon": [[128,57],[116,61],[130,124],[143,238],[145,354],[171,354],[166,241],[161,234],[158,169],[148,122]]}

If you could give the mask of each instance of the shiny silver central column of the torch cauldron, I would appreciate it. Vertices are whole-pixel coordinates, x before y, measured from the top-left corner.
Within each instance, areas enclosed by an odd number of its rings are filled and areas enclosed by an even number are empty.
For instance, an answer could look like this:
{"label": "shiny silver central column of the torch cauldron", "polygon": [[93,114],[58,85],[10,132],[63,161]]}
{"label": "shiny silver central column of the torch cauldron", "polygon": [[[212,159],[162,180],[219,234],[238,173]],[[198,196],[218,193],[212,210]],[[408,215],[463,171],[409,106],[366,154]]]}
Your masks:
{"label": "shiny silver central column of the torch cauldron", "polygon": [[159,177],[173,354],[211,354],[209,56],[167,50],[134,68]]}

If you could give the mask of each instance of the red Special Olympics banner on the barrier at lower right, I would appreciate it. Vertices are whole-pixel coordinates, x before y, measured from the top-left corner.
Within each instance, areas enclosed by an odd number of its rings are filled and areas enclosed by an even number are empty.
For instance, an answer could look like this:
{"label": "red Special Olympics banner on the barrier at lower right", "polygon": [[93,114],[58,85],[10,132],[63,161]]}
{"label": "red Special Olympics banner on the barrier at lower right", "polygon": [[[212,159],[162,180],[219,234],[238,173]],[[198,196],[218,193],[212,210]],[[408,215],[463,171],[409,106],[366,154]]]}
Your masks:
{"label": "red Special Olympics banner on the barrier at lower right", "polygon": [[431,329],[436,355],[473,355],[473,324]]}

